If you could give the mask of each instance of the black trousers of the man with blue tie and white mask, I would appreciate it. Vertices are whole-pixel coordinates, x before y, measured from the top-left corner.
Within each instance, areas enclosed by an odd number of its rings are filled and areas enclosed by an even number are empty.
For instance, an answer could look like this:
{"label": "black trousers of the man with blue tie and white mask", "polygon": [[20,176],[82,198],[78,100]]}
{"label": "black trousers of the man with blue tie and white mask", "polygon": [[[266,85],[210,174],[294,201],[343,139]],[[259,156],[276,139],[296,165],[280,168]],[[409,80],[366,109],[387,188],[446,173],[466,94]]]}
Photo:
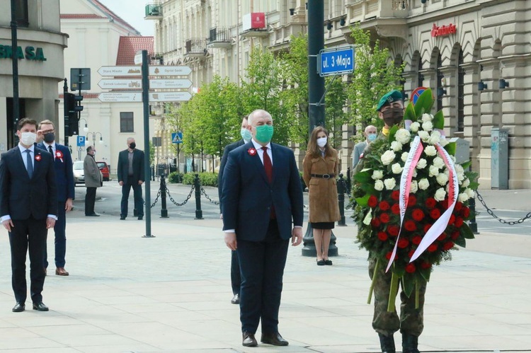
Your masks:
{"label": "black trousers of the man with blue tie and white mask", "polygon": [[24,220],[13,219],[13,228],[9,232],[11,248],[11,285],[16,301],[25,303],[28,284],[25,280],[25,257],[30,254],[30,296],[33,303],[42,301],[45,273],[44,248],[46,247],[46,219],[30,217]]}

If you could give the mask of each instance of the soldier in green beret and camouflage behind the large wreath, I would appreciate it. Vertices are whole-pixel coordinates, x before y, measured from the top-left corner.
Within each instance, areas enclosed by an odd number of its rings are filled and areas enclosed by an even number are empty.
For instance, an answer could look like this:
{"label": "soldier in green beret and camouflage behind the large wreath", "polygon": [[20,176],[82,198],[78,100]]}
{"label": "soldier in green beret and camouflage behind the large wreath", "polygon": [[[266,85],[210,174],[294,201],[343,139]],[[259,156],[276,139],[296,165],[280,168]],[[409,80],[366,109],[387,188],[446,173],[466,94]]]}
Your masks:
{"label": "soldier in green beret and camouflage behind the large wreath", "polygon": [[[399,91],[391,91],[385,94],[379,100],[377,111],[379,118],[384,120],[384,128],[378,139],[387,138],[389,129],[393,125],[398,125],[404,118],[404,100]],[[364,155],[370,153],[370,144],[364,151]],[[360,159],[354,173],[362,170],[364,159]],[[372,255],[369,258],[369,276],[375,272],[376,259]],[[379,342],[383,353],[395,353],[394,346],[394,332],[400,330],[402,334],[402,352],[403,353],[419,353],[418,351],[418,336],[421,335],[424,328],[423,324],[423,308],[424,308],[424,294],[426,293],[426,283],[424,283],[419,290],[419,305],[415,308],[415,296],[411,295],[409,298],[400,293],[400,317],[395,311],[387,311],[387,303],[389,302],[389,289],[391,288],[391,272],[385,273],[384,266],[379,266],[377,270],[377,279],[374,287],[375,294],[375,315],[372,318],[372,328],[378,332]]]}

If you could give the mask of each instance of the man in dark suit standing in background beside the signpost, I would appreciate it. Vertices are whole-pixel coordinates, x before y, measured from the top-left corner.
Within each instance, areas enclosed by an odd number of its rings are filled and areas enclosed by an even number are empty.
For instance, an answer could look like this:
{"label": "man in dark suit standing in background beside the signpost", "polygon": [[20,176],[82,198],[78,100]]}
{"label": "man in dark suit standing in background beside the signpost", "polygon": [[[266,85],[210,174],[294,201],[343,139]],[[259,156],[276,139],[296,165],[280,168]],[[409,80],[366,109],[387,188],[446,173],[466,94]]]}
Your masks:
{"label": "man in dark suit standing in background beside the signpost", "polygon": [[131,187],[135,197],[135,209],[138,219],[144,217],[144,200],[142,199],[142,184],[144,183],[144,151],[137,149],[135,139],[127,139],[127,149],[118,155],[118,183],[122,186],[122,204],[120,219],[127,217],[127,203]]}

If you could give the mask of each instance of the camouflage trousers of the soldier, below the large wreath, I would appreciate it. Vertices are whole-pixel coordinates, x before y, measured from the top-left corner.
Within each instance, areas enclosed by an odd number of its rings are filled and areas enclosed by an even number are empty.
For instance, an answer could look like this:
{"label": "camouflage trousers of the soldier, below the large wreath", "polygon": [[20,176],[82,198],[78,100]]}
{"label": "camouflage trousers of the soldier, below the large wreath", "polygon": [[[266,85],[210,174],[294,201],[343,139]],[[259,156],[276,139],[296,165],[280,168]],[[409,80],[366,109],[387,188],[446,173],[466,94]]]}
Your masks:
{"label": "camouflage trousers of the soldier, below the large wreath", "polygon": [[[385,265],[378,265],[377,279],[374,287],[375,315],[372,318],[372,328],[382,335],[392,335],[400,330],[402,333],[420,336],[424,328],[424,294],[426,294],[426,282],[419,290],[418,309],[415,308],[415,292],[408,298],[404,291],[400,292],[400,318],[395,311],[387,311],[389,302],[389,289],[391,288],[391,271],[385,273]],[[369,260],[369,276],[375,272],[376,259]]]}

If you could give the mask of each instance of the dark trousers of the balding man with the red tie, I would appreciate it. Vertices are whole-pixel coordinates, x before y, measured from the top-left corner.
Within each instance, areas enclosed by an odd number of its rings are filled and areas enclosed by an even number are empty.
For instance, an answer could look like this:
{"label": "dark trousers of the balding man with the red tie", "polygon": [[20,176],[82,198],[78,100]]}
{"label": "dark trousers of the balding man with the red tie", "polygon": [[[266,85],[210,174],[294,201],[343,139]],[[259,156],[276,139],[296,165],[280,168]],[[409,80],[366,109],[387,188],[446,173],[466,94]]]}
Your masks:
{"label": "dark trousers of the balding man with the red tie", "polygon": [[278,332],[278,309],[289,243],[280,238],[275,219],[270,221],[263,241],[238,241],[242,332],[256,333],[260,321],[263,333]]}

